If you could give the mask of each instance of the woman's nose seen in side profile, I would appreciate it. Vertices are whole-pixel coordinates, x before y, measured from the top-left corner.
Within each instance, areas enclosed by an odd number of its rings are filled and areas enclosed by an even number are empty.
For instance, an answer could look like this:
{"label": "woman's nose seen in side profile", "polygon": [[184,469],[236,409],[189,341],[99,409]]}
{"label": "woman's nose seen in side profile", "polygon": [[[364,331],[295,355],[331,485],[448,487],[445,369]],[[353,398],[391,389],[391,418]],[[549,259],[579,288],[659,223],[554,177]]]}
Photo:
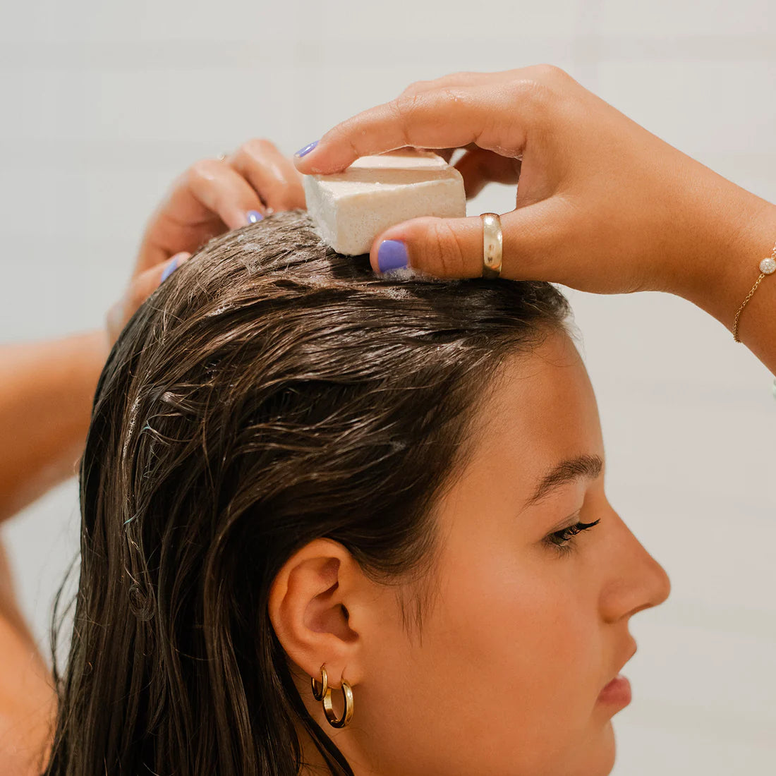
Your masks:
{"label": "woman's nose seen in side profile", "polygon": [[610,563],[601,590],[601,615],[608,622],[635,615],[657,606],[668,598],[671,583],[666,570],[636,539],[630,529],[615,516]]}

